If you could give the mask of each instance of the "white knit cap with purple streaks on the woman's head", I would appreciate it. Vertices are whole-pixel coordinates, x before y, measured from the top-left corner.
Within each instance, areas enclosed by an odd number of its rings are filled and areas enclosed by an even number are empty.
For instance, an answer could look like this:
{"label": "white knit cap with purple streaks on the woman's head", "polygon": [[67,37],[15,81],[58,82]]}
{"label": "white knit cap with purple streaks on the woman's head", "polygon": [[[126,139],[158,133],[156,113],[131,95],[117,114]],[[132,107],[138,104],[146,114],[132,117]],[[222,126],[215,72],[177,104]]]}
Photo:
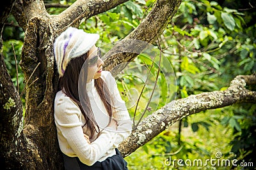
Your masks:
{"label": "white knit cap with purple streaks on the woman's head", "polygon": [[65,73],[70,59],[88,52],[98,39],[99,34],[90,34],[74,27],[62,32],[54,42],[54,57],[60,77]]}

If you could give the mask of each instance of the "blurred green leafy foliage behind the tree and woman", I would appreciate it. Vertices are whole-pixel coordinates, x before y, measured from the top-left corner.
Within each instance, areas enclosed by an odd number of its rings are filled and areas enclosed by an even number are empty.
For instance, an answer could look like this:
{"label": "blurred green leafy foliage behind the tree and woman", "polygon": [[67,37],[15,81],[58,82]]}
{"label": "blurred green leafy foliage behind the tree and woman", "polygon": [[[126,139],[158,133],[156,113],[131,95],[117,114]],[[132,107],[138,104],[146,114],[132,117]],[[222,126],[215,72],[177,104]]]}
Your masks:
{"label": "blurred green leafy foliage behind the tree and woman", "polygon": [[[45,3],[72,4],[73,1],[45,1]],[[79,28],[100,34],[101,39],[97,45],[104,46],[125,38],[140,24],[154,3],[156,2],[152,0],[128,1],[113,10],[83,21]],[[159,96],[155,99],[153,97],[145,116],[175,97],[179,99],[202,92],[225,90],[235,76],[255,73],[255,6],[254,1],[182,1],[175,17],[159,37],[161,48],[164,49],[163,55],[172,64],[177,84],[175,87],[173,85],[169,87],[168,83],[164,83],[169,80],[160,73],[157,82],[161,86]],[[58,14],[65,8],[47,10],[51,14]],[[16,86],[15,56],[19,63],[23,38],[24,32],[11,15],[4,27],[3,54]],[[157,41],[153,45],[159,48]],[[145,55],[139,55],[134,62],[150,67],[153,61],[148,60]],[[150,72],[156,75],[158,67],[155,65]],[[18,73],[19,91],[22,92],[24,83],[20,67]],[[144,75],[145,73],[141,73],[141,76]],[[124,100],[129,98],[129,89],[137,89],[140,92],[143,88],[143,82],[132,74],[117,83]],[[154,83],[147,86],[149,94],[153,86]],[[248,88],[255,90],[255,87]],[[167,92],[170,89],[172,93]],[[177,92],[177,96],[174,92]],[[24,96],[22,101],[24,103]],[[138,114],[145,110],[147,102],[148,96],[142,96],[138,104]],[[256,166],[255,108],[255,104],[234,104],[183,118],[125,160],[129,169],[253,169]],[[129,108],[131,117],[134,111],[134,107]],[[138,122],[138,119],[134,121]],[[221,159],[237,159],[239,160],[237,164],[253,162],[254,167],[211,166],[211,164],[202,167],[186,165],[182,167],[177,163],[170,166],[164,164],[164,161],[170,158],[192,161],[216,159],[217,152],[222,153]]]}

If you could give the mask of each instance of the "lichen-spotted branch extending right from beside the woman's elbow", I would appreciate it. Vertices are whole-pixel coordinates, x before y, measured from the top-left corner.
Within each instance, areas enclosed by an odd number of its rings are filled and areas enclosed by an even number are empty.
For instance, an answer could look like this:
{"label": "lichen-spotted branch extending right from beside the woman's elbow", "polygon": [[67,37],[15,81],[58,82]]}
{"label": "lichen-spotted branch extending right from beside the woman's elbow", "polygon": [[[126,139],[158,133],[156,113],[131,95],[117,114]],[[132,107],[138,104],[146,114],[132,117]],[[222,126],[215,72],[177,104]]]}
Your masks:
{"label": "lichen-spotted branch extending right from beside the woman's elbow", "polygon": [[145,118],[120,144],[119,149],[126,157],[173,123],[194,113],[223,108],[235,103],[256,103],[256,92],[245,88],[246,85],[255,84],[256,74],[237,76],[231,81],[227,90],[204,92],[172,101]]}

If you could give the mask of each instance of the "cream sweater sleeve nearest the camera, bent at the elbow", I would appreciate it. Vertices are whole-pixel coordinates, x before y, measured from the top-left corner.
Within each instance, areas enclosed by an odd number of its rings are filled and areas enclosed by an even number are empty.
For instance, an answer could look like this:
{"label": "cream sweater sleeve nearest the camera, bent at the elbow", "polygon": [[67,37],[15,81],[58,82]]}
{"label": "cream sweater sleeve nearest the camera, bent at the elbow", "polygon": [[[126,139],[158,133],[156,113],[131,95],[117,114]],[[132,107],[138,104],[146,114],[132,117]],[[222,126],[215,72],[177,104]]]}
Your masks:
{"label": "cream sweater sleeve nearest the camera, bent at the elbow", "polygon": [[109,148],[113,147],[116,133],[109,131],[111,128],[107,127],[100,132],[99,138],[89,144],[83,136],[79,117],[81,117],[81,111],[69,97],[64,96],[55,101],[54,118],[56,127],[60,129],[62,136],[67,139],[68,145],[79,160],[88,166],[92,166]]}

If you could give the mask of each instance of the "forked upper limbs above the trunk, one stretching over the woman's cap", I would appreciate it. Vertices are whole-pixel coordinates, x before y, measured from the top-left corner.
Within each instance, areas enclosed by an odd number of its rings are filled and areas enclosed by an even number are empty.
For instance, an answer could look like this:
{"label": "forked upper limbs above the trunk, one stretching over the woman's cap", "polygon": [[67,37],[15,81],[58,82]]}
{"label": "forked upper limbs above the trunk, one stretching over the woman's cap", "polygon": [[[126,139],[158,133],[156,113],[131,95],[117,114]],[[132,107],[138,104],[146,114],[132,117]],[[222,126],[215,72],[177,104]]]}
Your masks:
{"label": "forked upper limbs above the trunk, one stretching over the woman's cap", "polygon": [[[51,20],[54,28],[61,28],[59,31],[59,33],[61,33],[67,26],[72,25],[78,27],[83,18],[88,19],[94,15],[115,8],[119,4],[125,3],[126,1],[128,0],[79,0],[69,6],[67,10],[63,11],[59,15],[49,15],[45,9],[43,0],[17,0],[15,6],[13,7],[12,13],[24,31],[26,30],[26,25],[31,18],[40,17],[44,20]],[[63,18],[65,18],[65,20],[63,20]]]}

